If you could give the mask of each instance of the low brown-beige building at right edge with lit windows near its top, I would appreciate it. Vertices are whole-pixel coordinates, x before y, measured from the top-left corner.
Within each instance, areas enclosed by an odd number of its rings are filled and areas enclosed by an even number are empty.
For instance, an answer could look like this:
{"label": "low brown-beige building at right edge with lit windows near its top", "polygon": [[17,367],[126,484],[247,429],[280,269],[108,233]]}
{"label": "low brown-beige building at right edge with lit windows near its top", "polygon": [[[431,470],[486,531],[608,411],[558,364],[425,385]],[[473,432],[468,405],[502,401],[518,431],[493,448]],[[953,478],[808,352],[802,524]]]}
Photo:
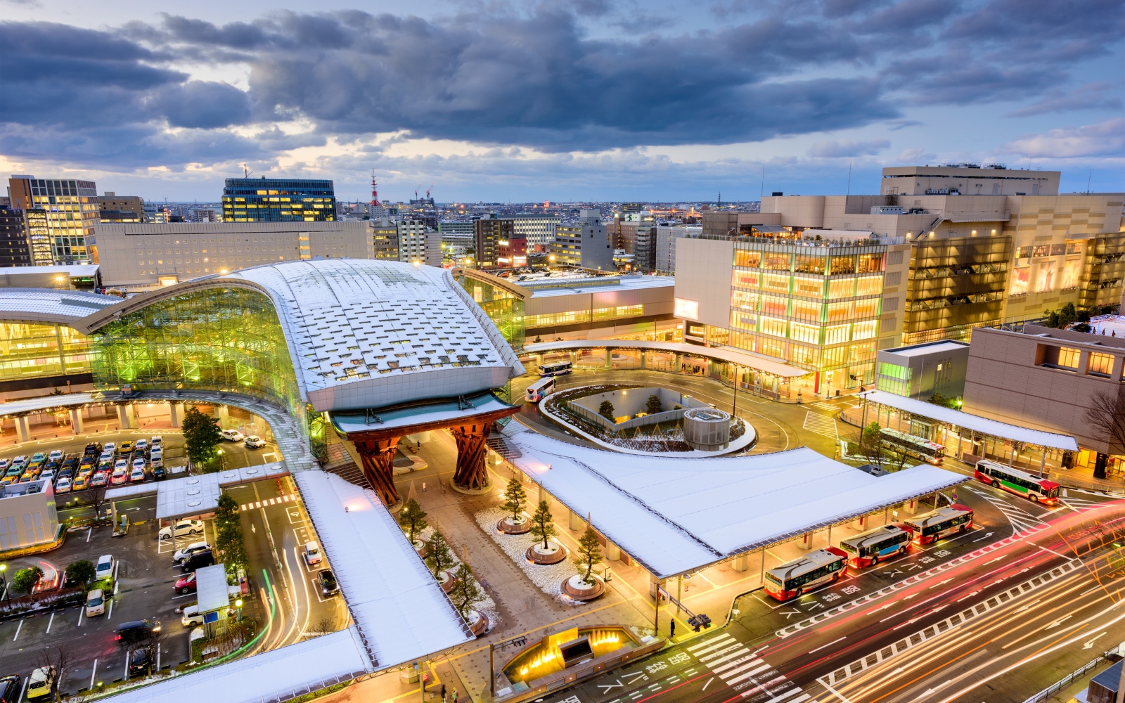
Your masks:
{"label": "low brown-beige building at right edge with lit windows near its top", "polygon": [[[1080,465],[1097,454],[1125,453],[1092,436],[1083,420],[1098,393],[1117,394],[1125,369],[1125,339],[1025,325],[1024,332],[973,330],[965,372],[964,409],[1034,430],[1073,435]],[[1102,457],[1105,461],[1105,457]]]}

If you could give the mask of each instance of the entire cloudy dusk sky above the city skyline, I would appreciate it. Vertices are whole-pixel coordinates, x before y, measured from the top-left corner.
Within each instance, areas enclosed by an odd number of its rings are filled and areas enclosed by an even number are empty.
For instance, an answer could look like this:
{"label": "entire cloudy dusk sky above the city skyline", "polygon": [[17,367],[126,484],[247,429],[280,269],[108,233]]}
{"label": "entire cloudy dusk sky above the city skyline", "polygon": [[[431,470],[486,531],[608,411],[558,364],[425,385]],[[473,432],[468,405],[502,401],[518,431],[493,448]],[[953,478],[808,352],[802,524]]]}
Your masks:
{"label": "entire cloudy dusk sky above the city skyline", "polygon": [[749,200],[972,161],[1125,190],[1125,0],[315,4],[0,0],[0,172]]}

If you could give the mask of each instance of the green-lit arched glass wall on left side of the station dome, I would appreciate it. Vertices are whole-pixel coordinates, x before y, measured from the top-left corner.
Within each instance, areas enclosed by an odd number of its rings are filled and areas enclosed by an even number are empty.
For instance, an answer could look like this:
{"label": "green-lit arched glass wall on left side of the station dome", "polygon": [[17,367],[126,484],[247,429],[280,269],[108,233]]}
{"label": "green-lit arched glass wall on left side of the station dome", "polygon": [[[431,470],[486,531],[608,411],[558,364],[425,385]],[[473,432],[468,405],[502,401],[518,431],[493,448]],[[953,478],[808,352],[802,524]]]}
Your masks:
{"label": "green-lit arched glass wall on left side of the station dome", "polygon": [[258,396],[304,417],[281,323],[263,294],[208,288],[153,303],[92,334],[94,388]]}

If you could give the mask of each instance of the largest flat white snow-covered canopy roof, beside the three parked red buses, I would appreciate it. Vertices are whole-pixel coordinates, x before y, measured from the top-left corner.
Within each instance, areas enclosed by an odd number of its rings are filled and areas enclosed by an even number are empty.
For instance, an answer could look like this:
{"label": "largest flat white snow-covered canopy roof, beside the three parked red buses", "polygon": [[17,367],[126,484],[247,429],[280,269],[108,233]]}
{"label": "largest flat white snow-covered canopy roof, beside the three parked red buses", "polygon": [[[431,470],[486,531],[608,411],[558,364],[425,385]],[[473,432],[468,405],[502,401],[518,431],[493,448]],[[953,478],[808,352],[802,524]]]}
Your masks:
{"label": "largest flat white snow-covered canopy roof, beside the three parked red buses", "polygon": [[510,423],[489,445],[659,578],[956,486],[929,465],[874,477],[811,449],[637,457]]}

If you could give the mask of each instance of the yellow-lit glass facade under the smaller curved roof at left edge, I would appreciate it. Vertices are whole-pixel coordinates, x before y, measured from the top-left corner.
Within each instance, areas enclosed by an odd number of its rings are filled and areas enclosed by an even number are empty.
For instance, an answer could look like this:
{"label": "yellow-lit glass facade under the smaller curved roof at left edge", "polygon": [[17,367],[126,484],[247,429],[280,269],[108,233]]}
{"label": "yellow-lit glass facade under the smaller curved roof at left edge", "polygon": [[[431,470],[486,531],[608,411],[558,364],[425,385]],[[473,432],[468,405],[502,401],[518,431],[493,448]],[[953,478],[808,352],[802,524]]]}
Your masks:
{"label": "yellow-lit glass facade under the smaller curved roof at left edge", "polygon": [[0,381],[90,372],[90,337],[53,323],[0,322]]}

